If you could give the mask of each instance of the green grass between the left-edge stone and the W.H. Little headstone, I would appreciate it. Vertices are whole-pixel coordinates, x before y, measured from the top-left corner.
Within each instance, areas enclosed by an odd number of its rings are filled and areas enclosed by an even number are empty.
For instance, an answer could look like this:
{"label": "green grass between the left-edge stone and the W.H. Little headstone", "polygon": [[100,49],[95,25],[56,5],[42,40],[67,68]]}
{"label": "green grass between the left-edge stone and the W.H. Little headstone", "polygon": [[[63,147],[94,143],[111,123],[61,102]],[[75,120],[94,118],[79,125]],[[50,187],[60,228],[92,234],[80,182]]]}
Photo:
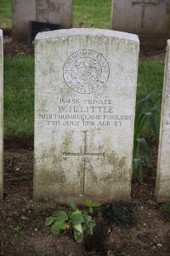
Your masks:
{"label": "green grass between the left-edge stone and the W.H. Little headstone", "polygon": [[4,136],[33,135],[34,58],[4,58]]}

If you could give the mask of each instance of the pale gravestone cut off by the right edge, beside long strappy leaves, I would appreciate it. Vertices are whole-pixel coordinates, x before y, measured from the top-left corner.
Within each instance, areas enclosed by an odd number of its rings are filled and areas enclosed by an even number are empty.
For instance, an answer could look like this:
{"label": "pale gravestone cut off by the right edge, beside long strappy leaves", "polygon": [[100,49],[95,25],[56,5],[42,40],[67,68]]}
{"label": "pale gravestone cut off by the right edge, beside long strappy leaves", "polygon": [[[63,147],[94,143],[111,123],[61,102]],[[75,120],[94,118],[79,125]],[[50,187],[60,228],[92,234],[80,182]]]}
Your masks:
{"label": "pale gravestone cut off by the right edge, beside long strappy leaves", "polygon": [[167,56],[161,103],[156,198],[158,201],[170,201],[170,40],[167,41]]}

